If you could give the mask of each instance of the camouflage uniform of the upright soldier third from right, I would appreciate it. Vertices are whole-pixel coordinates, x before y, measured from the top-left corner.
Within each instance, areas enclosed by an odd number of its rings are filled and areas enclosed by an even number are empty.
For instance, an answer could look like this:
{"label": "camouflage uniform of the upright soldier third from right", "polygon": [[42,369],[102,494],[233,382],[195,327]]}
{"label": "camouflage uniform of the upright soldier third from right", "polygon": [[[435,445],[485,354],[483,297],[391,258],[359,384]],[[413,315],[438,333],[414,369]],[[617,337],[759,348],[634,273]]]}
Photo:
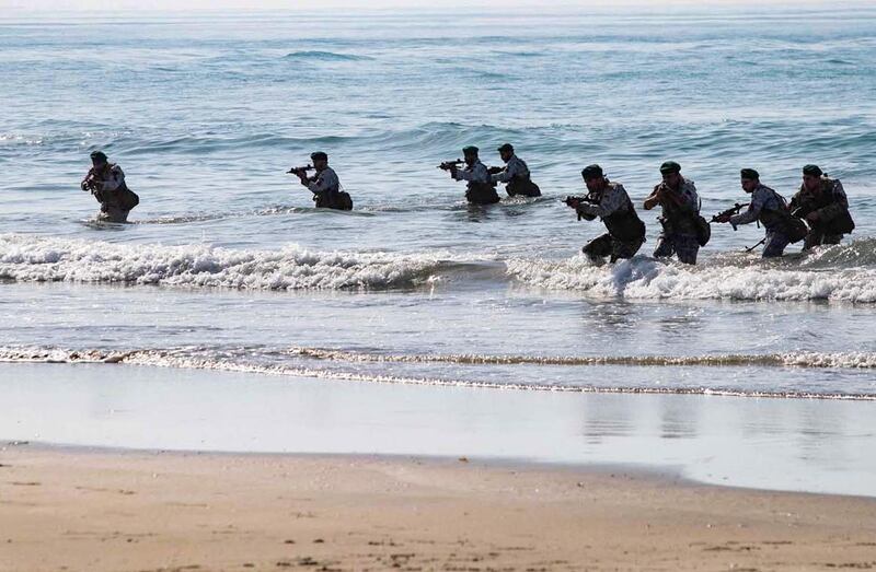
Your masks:
{"label": "camouflage uniform of the upright soldier third from right", "polygon": [[[660,188],[662,184],[654,187]],[[696,223],[694,217],[700,213],[700,197],[696,195],[696,187],[689,178],[681,179],[678,190],[667,189],[681,196],[681,207],[675,205],[660,203],[662,214],[660,222],[664,232],[657,241],[657,248],[654,249],[655,258],[668,258],[673,254],[684,264],[695,265],[696,254],[700,252],[700,243],[696,242]]]}

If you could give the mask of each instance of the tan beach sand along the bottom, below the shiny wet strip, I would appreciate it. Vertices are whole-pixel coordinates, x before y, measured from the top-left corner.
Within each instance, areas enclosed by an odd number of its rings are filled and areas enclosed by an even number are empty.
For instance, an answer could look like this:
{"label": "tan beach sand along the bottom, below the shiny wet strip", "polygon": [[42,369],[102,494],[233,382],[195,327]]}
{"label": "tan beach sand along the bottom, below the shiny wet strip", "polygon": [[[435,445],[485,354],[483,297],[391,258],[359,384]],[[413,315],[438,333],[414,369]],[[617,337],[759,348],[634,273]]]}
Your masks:
{"label": "tan beach sand along the bottom, below the shiny wet strip", "polygon": [[0,570],[876,569],[876,500],[620,468],[0,453]]}

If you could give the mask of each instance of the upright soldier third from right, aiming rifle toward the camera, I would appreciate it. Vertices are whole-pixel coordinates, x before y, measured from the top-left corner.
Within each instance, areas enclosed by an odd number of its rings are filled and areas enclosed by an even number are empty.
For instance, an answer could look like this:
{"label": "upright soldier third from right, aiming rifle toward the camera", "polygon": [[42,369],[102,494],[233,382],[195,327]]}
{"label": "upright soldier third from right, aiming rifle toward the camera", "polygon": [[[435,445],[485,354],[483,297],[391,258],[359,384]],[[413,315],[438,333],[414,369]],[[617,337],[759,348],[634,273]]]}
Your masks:
{"label": "upright soldier third from right, aiming rifle toward the camera", "polygon": [[654,187],[648,198],[645,199],[645,210],[656,206],[662,208],[662,215],[658,219],[664,226],[664,232],[654,250],[655,258],[678,255],[681,262],[696,264],[696,253],[700,243],[696,237],[696,219],[700,215],[700,197],[693,180],[681,176],[681,165],[675,161],[667,161],[660,165],[662,183]]}

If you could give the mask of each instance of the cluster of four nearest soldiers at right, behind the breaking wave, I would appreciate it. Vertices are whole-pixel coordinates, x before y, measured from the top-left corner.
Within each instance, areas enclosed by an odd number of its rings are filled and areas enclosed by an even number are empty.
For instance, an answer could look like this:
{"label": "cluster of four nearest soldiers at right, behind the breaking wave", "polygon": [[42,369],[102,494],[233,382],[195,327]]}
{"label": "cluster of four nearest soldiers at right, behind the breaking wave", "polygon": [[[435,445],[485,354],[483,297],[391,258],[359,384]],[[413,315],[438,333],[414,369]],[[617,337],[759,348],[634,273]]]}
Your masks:
{"label": "cluster of four nearest soldiers at right, behind the breaking wave", "polygon": [[[700,214],[701,201],[693,180],[681,175],[681,165],[667,161],[660,165],[662,180],[645,199],[643,208],[660,207],[662,232],[654,250],[655,258],[676,255],[679,261],[694,265],[700,247],[712,235],[711,223],[729,223],[734,230],[742,224],[759,222],[765,230],[764,258],[784,254],[788,244],[804,241],[803,249],[822,244],[838,244],[844,234],[854,230],[849,200],[839,179],[828,177],[818,165],[803,167],[803,182],[788,203],[784,197],[760,182],[753,168],[739,172],[745,192],[751,195],[746,205],[721,212],[706,221]],[[599,165],[581,171],[588,194],[568,197],[578,218],[602,220],[607,234],[587,243],[584,254],[593,262],[633,257],[645,242],[645,224],[638,218],[630,196],[620,183],[604,176]],[[746,208],[747,207],[747,208]],[[744,212],[742,209],[745,209]]]}

